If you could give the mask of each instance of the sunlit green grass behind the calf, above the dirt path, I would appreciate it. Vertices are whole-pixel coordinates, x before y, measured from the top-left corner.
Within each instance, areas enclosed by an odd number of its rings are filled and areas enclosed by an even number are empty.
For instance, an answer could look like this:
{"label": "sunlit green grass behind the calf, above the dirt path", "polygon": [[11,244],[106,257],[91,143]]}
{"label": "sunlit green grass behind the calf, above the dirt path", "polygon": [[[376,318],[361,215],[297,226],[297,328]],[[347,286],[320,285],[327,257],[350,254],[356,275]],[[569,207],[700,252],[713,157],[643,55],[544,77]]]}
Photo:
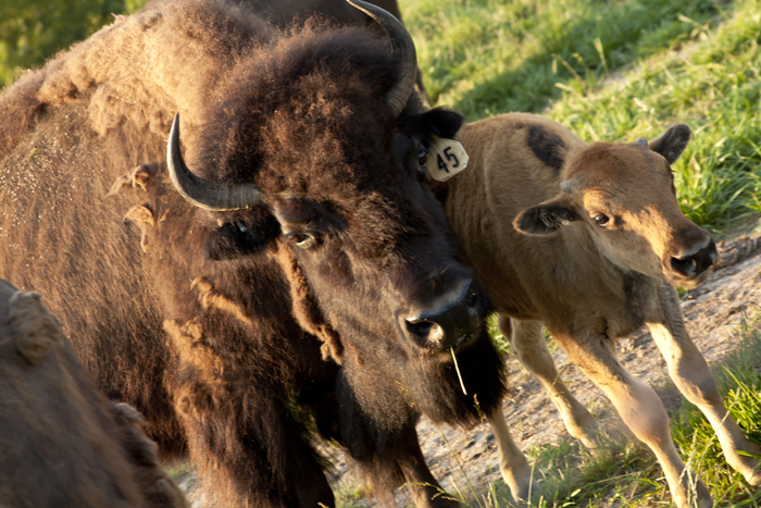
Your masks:
{"label": "sunlit green grass behind the calf, above the dirt path", "polygon": [[438,104],[477,120],[539,112],[586,140],[648,139],[675,122],[679,203],[720,232],[761,212],[761,2],[409,0]]}

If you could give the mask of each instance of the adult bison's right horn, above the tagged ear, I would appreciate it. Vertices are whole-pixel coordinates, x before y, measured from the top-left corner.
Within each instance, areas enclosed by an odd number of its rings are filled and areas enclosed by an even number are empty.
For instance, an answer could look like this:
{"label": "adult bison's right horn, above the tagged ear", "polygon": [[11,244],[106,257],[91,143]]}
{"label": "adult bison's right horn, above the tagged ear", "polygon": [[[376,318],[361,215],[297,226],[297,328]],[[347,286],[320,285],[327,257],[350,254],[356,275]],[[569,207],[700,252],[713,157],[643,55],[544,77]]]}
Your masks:
{"label": "adult bison's right horn, above the tagged ear", "polygon": [[399,20],[379,7],[362,0],[347,1],[380,25],[391,40],[391,51],[399,54],[401,59],[399,79],[386,94],[386,102],[391,107],[394,115],[399,116],[414,89],[415,78],[417,77],[417,54],[415,53],[415,44],[412,41],[412,36],[410,36],[410,33],[407,32],[407,28]]}

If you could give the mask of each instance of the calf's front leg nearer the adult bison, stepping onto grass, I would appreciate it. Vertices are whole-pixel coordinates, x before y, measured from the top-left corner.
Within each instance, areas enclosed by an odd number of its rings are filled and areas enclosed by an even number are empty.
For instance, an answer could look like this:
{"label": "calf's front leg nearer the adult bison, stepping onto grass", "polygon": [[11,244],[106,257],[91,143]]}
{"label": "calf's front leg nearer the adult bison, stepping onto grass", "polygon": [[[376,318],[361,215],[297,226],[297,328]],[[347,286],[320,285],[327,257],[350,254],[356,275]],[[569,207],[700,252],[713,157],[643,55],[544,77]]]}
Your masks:
{"label": "calf's front leg nearer the adult bison, stepping onto grass", "polygon": [[634,435],[656,454],[676,506],[712,507],[708,488],[685,467],[676,451],[669,417],[660,397],[619,363],[613,343],[607,336],[597,334],[581,338],[554,332],[553,335],[571,360],[604,392]]}

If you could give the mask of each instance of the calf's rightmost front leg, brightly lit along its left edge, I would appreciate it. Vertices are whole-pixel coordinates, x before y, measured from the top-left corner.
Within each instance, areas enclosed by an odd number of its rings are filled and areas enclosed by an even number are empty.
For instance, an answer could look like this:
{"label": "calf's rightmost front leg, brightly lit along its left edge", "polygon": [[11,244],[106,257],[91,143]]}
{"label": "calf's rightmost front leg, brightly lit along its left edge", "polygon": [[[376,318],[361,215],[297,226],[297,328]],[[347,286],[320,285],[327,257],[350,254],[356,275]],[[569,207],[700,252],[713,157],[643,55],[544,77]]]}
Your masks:
{"label": "calf's rightmost front leg, brightly lit along its left edge", "polygon": [[[751,485],[761,484],[761,464],[758,459],[739,453],[761,455],[761,449],[745,436],[728,414],[716,382],[700,350],[685,330],[676,290],[664,287],[659,306],[662,315],[648,323],[652,338],[669,365],[669,375],[684,396],[700,408],[716,432],[726,461],[743,474]],[[739,451],[739,453],[738,453]]]}

